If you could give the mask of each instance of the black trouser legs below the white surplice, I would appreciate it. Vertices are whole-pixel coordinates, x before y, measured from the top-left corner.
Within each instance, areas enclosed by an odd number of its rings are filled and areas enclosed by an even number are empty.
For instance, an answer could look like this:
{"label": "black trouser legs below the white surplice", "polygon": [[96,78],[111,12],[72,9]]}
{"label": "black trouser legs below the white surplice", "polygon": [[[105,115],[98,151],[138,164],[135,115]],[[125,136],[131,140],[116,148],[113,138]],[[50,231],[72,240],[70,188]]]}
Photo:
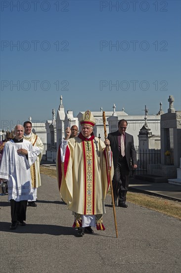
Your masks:
{"label": "black trouser legs below the white surplice", "polygon": [[11,205],[11,222],[26,221],[26,208],[27,200],[16,202],[13,199],[10,200]]}

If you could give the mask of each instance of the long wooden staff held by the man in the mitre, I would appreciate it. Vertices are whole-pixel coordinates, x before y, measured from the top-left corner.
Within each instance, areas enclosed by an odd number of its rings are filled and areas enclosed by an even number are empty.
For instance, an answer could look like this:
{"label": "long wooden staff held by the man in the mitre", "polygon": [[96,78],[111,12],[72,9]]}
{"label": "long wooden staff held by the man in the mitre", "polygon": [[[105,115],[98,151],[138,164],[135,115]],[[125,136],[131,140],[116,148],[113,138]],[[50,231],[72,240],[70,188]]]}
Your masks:
{"label": "long wooden staff held by the man in the mitre", "polygon": [[[102,113],[102,119],[103,119],[103,124],[104,124],[104,137],[107,138],[106,119],[105,119],[105,112],[104,111]],[[118,238],[117,221],[116,221],[116,210],[115,210],[115,204],[114,204],[114,195],[113,195],[113,187],[112,187],[112,179],[111,179],[111,167],[109,167],[108,145],[106,145],[106,155],[107,155],[107,161],[108,161],[109,181],[110,181],[110,185],[111,185],[111,197],[112,197],[112,205],[113,205],[113,212],[114,212],[114,223],[115,223],[115,229],[116,229],[116,238]]]}

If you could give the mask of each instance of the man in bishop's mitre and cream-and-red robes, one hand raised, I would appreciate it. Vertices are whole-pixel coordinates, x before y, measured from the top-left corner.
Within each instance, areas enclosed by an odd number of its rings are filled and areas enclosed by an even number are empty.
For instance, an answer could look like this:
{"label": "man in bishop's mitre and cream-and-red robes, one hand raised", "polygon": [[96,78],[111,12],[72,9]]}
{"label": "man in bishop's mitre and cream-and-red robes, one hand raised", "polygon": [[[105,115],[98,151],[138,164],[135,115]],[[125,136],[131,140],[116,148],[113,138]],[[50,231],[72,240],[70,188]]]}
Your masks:
{"label": "man in bishop's mitre and cream-and-red robes, one hand raised", "polygon": [[[112,153],[107,160],[105,143],[93,135],[95,119],[86,111],[81,123],[79,136],[70,138],[71,130],[66,128],[67,136],[57,152],[57,179],[60,195],[68,209],[75,215],[73,227],[78,228],[78,236],[93,233],[91,227],[104,230],[102,214],[105,213],[104,200],[110,181],[108,168],[113,177]],[[110,147],[109,147],[110,150]]]}

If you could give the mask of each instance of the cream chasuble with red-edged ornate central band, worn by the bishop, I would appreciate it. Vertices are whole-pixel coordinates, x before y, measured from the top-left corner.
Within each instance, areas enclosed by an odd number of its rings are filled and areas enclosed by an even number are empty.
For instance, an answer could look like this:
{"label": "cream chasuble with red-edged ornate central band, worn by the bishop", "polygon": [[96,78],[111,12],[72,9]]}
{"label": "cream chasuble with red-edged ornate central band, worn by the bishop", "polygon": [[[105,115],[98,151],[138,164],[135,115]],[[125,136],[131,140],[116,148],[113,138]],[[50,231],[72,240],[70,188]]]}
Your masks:
{"label": "cream chasuble with red-edged ornate central band, worn by the bishop", "polygon": [[[91,140],[79,136],[69,139],[64,163],[61,163],[60,147],[57,152],[60,195],[68,209],[78,215],[102,214],[105,213],[104,200],[110,185],[105,144],[94,136]],[[111,177],[113,173],[111,166]],[[98,224],[102,223],[100,217],[97,219],[100,220]]]}

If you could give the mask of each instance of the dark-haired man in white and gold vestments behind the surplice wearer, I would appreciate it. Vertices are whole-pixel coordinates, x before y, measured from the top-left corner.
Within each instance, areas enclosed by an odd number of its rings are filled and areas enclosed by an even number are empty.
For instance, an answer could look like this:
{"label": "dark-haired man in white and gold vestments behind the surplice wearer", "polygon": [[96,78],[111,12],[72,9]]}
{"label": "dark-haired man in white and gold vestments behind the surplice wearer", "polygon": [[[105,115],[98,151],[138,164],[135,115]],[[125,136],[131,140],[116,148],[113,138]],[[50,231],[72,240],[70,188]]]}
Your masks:
{"label": "dark-haired man in white and gold vestments behind the surplice wearer", "polygon": [[35,201],[37,200],[37,189],[41,186],[40,161],[44,151],[44,144],[39,136],[33,134],[31,121],[24,122],[23,126],[25,130],[23,138],[30,141],[34,147],[40,149],[40,154],[38,155],[37,160],[31,166],[32,188],[34,190],[35,198],[34,200],[28,200],[28,206],[37,206]]}

